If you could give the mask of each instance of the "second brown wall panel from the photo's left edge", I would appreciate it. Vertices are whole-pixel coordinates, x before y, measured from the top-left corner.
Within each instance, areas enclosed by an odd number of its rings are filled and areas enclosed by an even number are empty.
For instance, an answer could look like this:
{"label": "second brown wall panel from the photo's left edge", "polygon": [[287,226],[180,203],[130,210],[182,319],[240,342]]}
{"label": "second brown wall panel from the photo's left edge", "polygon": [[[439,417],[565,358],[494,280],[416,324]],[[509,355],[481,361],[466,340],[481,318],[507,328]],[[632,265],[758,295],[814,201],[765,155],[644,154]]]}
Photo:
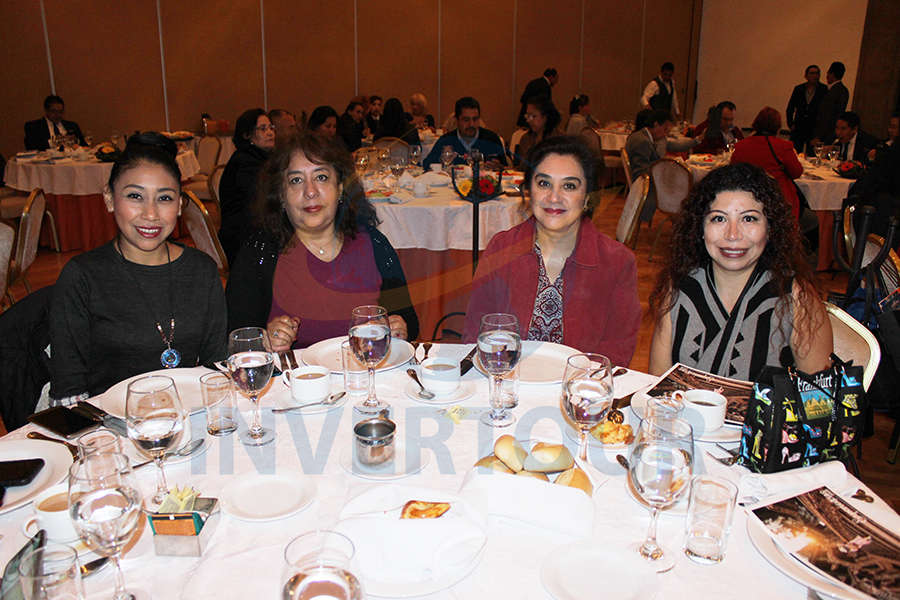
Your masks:
{"label": "second brown wall panel from the photo's left edge", "polygon": [[56,91],[95,138],[165,126],[156,3],[44,0]]}

